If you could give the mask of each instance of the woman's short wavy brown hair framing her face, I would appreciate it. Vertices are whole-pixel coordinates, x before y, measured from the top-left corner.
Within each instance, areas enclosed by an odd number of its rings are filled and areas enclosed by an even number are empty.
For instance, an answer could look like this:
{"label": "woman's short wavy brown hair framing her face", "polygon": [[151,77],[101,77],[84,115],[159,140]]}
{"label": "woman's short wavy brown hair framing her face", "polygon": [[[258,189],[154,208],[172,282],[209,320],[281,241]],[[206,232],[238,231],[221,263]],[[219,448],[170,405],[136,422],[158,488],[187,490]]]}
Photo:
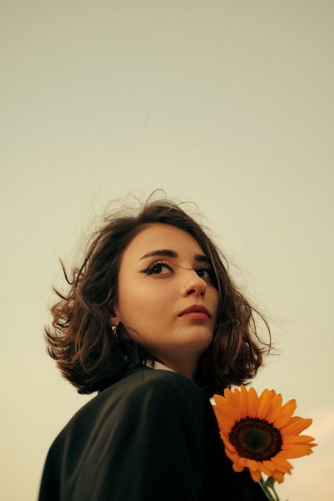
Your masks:
{"label": "woman's short wavy brown hair framing her face", "polygon": [[[199,359],[195,381],[208,395],[222,393],[229,385],[253,378],[271,347],[270,329],[264,316],[241,294],[226,271],[223,254],[199,223],[169,199],[147,200],[135,214],[118,211],[89,240],[82,264],[68,278],[66,295],[54,289],[58,302],[51,307],[53,321],[46,327],[50,356],[79,393],[99,391],[111,385],[120,373],[153,361],[154,357],[129,338],[118,326],[112,335],[110,319],[118,294],[118,268],[122,253],[133,237],[148,224],[166,223],[190,233],[216,274],[219,292],[214,338]],[[256,332],[257,314],[268,329],[269,342]]]}

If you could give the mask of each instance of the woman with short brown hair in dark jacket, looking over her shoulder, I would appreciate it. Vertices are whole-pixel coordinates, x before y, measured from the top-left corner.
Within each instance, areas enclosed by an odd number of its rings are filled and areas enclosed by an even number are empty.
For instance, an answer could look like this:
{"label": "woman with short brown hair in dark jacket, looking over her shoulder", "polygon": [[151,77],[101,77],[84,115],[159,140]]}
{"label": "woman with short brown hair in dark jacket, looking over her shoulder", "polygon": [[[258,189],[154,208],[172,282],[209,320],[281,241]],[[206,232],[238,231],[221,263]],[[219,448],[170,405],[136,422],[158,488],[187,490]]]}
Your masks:
{"label": "woman with short brown hair in dark jacket, looking over her shoulder", "polygon": [[68,283],[49,354],[99,393],[51,445],[39,501],[266,499],[209,401],[261,366],[255,310],[201,226],[166,199],[110,216]]}

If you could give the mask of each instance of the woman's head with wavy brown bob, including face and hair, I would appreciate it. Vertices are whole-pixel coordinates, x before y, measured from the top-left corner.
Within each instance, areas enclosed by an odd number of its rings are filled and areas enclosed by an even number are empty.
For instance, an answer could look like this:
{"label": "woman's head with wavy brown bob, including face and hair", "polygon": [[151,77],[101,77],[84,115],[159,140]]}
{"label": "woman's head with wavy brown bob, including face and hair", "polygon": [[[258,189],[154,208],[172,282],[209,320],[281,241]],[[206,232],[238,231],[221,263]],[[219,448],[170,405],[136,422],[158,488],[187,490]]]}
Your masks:
{"label": "woman's head with wavy brown bob, including face and hair", "polygon": [[[46,337],[79,392],[105,388],[127,366],[173,365],[180,354],[199,359],[195,379],[209,394],[245,382],[261,365],[256,310],[203,228],[168,199],[107,217],[68,283]],[[180,316],[194,305],[207,315]]]}

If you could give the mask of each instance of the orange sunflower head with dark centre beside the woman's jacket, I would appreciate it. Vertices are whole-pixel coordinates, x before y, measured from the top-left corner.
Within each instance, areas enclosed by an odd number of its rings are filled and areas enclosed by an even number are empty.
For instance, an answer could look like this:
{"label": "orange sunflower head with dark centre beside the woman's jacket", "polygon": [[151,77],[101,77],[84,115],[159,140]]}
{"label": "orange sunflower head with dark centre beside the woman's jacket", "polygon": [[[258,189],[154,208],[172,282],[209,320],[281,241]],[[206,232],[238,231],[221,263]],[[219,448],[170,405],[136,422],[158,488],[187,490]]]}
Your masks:
{"label": "orange sunflower head with dark centre beside the woman's jacket", "polygon": [[224,397],[214,395],[213,406],[225,452],[233,462],[234,471],[249,469],[255,482],[264,473],[283,482],[291,473],[287,459],[311,454],[313,437],[299,435],[310,426],[311,419],[292,417],[295,400],[282,405],[282,395],[264,390],[260,396],[254,388],[248,391],[225,390]]}

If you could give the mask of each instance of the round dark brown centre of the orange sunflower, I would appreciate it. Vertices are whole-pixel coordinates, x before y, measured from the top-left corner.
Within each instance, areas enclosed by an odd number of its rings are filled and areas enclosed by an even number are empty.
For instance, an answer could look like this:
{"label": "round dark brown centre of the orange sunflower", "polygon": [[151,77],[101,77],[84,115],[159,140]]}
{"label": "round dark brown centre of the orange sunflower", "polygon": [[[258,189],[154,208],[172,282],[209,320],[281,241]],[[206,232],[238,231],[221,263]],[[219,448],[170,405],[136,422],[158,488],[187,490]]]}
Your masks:
{"label": "round dark brown centre of the orange sunflower", "polygon": [[264,419],[240,419],[233,426],[228,438],[241,457],[255,461],[271,459],[282,447],[280,431]]}

